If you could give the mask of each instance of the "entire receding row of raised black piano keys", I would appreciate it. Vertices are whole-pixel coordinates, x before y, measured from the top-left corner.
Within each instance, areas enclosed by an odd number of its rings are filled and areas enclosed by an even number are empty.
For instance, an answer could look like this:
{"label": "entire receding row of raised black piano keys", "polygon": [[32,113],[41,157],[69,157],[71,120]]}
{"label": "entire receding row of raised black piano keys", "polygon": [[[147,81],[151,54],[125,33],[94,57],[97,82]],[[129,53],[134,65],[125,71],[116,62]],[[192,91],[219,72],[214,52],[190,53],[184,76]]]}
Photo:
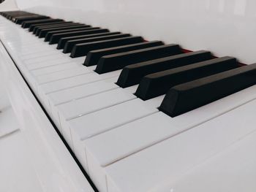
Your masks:
{"label": "entire receding row of raised black piano keys", "polygon": [[213,58],[208,51],[183,53],[178,45],[145,42],[142,37],[51,18],[23,17],[22,26],[45,37],[49,44],[58,44],[57,49],[71,53],[72,58],[86,55],[83,65],[97,65],[95,72],[99,74],[122,69],[116,84],[121,88],[139,84],[135,95],[140,99],[166,94],[159,110],[171,117],[241,91],[256,81],[256,64],[239,66],[236,58]]}

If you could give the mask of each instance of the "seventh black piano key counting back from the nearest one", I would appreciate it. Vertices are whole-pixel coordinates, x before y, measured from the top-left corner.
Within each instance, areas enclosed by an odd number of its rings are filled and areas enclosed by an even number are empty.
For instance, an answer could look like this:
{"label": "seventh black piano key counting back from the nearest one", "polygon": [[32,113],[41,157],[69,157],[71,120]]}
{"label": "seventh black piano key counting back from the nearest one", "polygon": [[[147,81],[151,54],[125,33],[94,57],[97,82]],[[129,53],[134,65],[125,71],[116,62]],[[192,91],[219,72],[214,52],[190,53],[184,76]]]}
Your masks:
{"label": "seventh black piano key counting back from the nearest one", "polygon": [[86,42],[98,42],[102,40],[108,40],[108,39],[116,39],[121,37],[130,37],[130,34],[113,34],[108,35],[104,37],[91,37],[91,38],[85,38],[85,39],[76,39],[76,40],[69,40],[66,42],[66,45],[64,47],[63,53],[71,53],[72,48],[80,43],[86,43]]}

